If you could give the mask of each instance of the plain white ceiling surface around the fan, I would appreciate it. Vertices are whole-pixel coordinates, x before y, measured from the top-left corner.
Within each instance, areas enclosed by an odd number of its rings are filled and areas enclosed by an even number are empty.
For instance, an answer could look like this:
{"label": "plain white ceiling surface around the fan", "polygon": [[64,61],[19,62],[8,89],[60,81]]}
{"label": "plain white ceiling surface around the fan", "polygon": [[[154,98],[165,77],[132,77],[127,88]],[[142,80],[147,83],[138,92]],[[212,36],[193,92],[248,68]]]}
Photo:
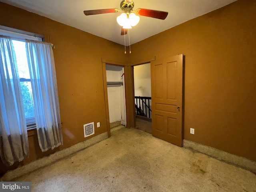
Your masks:
{"label": "plain white ceiling surface around the fan", "polygon": [[[117,8],[122,0],[0,0],[7,4],[45,16],[124,45],[118,13],[85,16],[84,10]],[[140,16],[137,26],[130,29],[130,43],[134,44],[178,24],[221,8],[236,0],[134,0],[134,10],[146,8],[168,12],[165,20]],[[127,45],[127,41],[126,41]]]}

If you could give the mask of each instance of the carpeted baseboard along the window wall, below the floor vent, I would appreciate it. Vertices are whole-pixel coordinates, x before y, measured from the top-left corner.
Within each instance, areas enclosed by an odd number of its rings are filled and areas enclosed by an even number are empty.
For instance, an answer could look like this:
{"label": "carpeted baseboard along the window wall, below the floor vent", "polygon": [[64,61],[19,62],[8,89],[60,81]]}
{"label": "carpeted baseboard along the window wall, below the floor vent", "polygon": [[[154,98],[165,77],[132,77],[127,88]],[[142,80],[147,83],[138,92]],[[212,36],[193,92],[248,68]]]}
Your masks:
{"label": "carpeted baseboard along the window wall, below the floor vent", "polygon": [[11,181],[17,177],[20,177],[24,174],[27,174],[29,172],[32,172],[34,170],[37,170],[39,168],[42,168],[44,166],[47,166],[49,164],[52,164],[62,158],[65,158],[71,154],[74,154],[80,150],[83,150],[89,146],[92,146],[93,144],[96,144],[102,140],[105,140],[108,138],[108,132],[102,133],[100,135],[97,135],[93,138],[90,138],[84,142],[80,142],[78,144],[75,144],[69,148],[63,149],[61,151],[55,152],[54,154],[51,154],[50,156],[40,158],[38,160],[35,160],[29,164],[26,164],[24,166],[18,167],[14,170],[10,170],[0,178],[0,181]]}

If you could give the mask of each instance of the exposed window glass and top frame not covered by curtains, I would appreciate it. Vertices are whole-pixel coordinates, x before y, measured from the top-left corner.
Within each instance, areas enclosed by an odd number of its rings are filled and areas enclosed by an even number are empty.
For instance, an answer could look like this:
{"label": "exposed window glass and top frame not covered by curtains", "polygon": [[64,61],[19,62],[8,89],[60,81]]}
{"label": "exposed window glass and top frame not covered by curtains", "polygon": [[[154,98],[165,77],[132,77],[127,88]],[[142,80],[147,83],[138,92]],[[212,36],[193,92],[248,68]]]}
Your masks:
{"label": "exposed window glass and top frame not covered by curtains", "polygon": [[24,111],[26,116],[27,128],[35,127],[34,102],[32,97],[32,88],[30,81],[30,73],[28,69],[28,60],[26,55],[25,39],[42,41],[43,36],[35,35],[20,30],[13,31],[12,28],[0,26],[0,34],[12,37],[12,43],[15,50],[16,62],[18,66],[18,74],[20,77],[20,87],[24,103]]}

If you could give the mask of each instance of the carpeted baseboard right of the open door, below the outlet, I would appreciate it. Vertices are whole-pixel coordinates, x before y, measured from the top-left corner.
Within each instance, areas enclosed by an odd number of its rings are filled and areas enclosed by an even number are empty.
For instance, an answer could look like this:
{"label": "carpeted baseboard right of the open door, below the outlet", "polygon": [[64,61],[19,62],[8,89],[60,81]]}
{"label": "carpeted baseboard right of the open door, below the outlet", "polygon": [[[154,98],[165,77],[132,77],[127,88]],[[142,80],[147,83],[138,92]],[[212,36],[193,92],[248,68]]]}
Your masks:
{"label": "carpeted baseboard right of the open door, below the outlet", "polygon": [[256,173],[256,162],[203,144],[183,140],[183,147]]}

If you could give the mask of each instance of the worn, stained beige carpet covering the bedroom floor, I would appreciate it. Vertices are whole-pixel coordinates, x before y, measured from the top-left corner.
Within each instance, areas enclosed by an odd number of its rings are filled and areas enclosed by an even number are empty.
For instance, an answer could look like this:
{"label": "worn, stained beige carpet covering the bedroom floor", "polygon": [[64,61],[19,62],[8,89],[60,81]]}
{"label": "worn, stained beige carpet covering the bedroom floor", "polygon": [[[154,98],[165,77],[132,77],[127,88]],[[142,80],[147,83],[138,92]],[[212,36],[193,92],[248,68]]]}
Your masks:
{"label": "worn, stained beige carpet covering the bedroom floor", "polygon": [[256,175],[137,129],[26,174],[33,192],[256,192]]}

